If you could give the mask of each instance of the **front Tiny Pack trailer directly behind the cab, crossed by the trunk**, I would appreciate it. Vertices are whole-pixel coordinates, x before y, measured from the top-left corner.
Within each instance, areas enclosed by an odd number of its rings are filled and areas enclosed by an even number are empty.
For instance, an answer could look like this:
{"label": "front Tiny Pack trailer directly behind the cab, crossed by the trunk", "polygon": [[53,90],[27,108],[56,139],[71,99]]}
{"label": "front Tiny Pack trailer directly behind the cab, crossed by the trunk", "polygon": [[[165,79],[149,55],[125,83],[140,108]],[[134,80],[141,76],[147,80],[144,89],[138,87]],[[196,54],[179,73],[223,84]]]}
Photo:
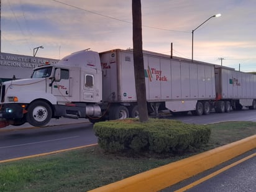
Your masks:
{"label": "front Tiny Pack trailer directly behind the cab, crossed by the trunk", "polygon": [[[131,50],[112,50],[100,53],[103,69],[103,101],[124,106],[134,117],[137,107],[134,63]],[[144,52],[147,102],[150,112],[170,109],[171,112],[193,111],[208,114],[210,103],[216,99],[214,65],[191,62]],[[204,107],[205,106],[205,107]],[[111,111],[119,111],[119,110]]]}

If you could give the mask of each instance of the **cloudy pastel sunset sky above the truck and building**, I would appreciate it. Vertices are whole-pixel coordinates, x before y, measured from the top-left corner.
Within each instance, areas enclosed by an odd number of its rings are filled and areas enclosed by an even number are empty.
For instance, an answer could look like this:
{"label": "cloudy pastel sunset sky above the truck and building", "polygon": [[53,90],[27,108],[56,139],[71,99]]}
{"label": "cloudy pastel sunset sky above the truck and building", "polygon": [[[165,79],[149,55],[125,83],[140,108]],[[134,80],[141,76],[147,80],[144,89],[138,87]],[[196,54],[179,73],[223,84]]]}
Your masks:
{"label": "cloudy pastel sunset sky above the truck and building", "polygon": [[[256,0],[141,0],[143,49],[256,71]],[[60,59],[132,48],[132,1],[2,0],[1,52]]]}

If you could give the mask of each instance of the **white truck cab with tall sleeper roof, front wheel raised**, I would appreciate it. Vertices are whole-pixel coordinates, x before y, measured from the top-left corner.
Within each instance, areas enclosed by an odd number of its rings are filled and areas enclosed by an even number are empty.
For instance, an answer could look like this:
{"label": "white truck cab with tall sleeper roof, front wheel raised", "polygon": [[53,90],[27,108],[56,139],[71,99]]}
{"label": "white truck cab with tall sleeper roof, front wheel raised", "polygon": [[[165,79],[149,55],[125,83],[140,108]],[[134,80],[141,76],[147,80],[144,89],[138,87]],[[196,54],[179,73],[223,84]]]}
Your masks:
{"label": "white truck cab with tall sleeper roof, front wheel raised", "polygon": [[1,86],[0,119],[19,126],[44,126],[52,117],[97,117],[102,100],[99,53],[83,50],[54,65],[34,69],[30,79]]}

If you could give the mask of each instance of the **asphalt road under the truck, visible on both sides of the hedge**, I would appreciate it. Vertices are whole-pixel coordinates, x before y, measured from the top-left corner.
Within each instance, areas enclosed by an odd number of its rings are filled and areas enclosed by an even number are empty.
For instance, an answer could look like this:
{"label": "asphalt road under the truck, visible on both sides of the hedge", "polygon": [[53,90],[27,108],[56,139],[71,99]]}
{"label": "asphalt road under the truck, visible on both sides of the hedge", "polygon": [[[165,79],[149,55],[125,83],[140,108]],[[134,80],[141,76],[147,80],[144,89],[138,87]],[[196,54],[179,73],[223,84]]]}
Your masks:
{"label": "asphalt road under the truck, visible on both sides of the hedge", "polygon": [[[220,121],[256,121],[256,111],[242,110],[224,114],[212,113],[208,116],[186,115],[168,118],[194,124],[209,124]],[[97,138],[93,132],[93,124],[89,122],[0,132],[0,160],[96,143]]]}

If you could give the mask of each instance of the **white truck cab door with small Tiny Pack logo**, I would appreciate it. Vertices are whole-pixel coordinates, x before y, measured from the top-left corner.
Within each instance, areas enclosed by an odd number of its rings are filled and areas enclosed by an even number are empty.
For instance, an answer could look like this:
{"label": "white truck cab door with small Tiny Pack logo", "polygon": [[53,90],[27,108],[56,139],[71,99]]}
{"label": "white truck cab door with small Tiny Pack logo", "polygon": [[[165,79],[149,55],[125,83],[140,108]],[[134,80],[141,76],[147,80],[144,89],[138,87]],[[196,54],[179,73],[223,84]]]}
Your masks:
{"label": "white truck cab door with small Tiny Pack logo", "polygon": [[[56,71],[56,68],[55,68]],[[52,94],[54,96],[70,96],[70,71],[60,69],[60,81],[52,85]]]}

